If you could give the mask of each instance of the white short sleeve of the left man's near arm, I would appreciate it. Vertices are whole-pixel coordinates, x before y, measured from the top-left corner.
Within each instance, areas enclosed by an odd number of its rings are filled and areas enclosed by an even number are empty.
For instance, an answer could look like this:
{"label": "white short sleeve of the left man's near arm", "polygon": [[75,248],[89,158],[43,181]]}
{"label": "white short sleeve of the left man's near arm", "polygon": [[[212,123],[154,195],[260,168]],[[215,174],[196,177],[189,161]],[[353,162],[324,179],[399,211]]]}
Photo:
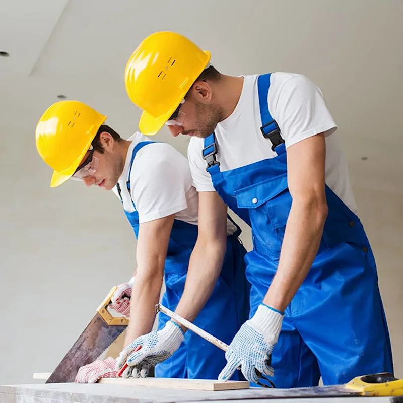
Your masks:
{"label": "white short sleeve of the left man's near arm", "polygon": [[[185,164],[181,158],[149,157],[139,159],[130,176],[131,197],[139,212],[140,224],[185,210],[187,187],[191,186],[185,157],[180,156]],[[141,169],[136,169],[138,167]]]}

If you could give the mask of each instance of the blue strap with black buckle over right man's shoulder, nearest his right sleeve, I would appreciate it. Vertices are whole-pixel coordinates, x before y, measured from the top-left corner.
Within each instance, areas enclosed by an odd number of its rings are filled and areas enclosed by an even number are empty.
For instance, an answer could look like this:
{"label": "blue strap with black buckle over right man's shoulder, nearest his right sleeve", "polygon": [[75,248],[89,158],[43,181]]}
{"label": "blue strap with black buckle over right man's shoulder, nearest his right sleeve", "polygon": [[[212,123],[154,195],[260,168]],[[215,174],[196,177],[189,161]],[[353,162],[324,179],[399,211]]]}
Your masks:
{"label": "blue strap with black buckle over right man's shoulder, nearest his right sleeve", "polygon": [[[260,131],[264,138],[272,142],[272,150],[276,151],[277,154],[282,154],[285,152],[285,146],[280,147],[275,150],[278,146],[284,144],[284,139],[281,137],[280,127],[276,120],[273,119],[272,115],[268,110],[268,90],[270,88],[270,77],[272,73],[262,74],[257,79],[257,91],[259,94],[259,108],[260,108],[260,119],[262,126]],[[283,151],[284,149],[284,151]]]}

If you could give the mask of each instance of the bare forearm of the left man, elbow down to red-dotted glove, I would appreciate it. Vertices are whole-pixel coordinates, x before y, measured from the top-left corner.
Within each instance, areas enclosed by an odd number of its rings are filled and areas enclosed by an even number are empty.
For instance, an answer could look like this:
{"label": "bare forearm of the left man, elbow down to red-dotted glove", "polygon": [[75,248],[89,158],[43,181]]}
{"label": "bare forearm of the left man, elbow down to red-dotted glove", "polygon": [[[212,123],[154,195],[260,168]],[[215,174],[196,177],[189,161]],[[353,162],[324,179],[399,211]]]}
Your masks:
{"label": "bare forearm of the left man, elbow down to red-dotted glove", "polygon": [[162,274],[154,278],[142,278],[139,274],[136,276],[131,291],[130,320],[126,329],[124,347],[152,330],[156,316],[155,305],[159,301],[162,278]]}

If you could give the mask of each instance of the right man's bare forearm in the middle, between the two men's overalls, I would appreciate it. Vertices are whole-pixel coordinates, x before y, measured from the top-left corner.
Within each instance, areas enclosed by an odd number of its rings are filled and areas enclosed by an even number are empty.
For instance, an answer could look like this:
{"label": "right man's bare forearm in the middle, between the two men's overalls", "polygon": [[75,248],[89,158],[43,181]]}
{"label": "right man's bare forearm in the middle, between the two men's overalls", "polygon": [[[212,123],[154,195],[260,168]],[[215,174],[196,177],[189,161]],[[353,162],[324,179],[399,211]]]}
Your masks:
{"label": "right man's bare forearm in the middle, between the two men's overalls", "polygon": [[196,243],[190,257],[185,289],[175,310],[178,315],[193,321],[203,309],[221,273],[225,251],[226,240],[212,242],[209,246]]}

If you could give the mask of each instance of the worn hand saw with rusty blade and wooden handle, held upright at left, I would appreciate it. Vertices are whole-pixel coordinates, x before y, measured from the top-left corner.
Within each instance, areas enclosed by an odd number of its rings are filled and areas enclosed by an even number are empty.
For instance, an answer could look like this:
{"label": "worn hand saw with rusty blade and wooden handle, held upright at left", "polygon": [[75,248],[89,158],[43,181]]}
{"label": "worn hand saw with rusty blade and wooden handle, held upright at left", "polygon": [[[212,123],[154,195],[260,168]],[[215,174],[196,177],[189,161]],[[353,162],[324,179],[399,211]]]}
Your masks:
{"label": "worn hand saw with rusty blade and wooden handle, held upright at left", "polygon": [[113,317],[108,311],[114,286],[96,310],[95,316],[72,348],[57,365],[46,383],[74,382],[80,367],[95,361],[127,327],[128,319]]}

